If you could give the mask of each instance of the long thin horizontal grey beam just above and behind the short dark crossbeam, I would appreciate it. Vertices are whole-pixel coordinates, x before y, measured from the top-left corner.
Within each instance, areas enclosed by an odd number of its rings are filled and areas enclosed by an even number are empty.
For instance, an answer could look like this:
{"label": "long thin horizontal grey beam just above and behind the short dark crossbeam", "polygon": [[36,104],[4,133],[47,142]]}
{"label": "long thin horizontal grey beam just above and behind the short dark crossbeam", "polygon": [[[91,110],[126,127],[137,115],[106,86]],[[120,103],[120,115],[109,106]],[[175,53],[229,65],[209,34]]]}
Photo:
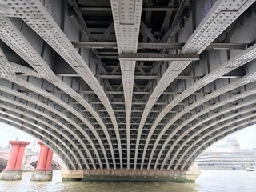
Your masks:
{"label": "long thin horizontal grey beam just above and behind the short dark crossbeam", "polygon": [[[116,42],[73,42],[75,48],[92,48],[92,49],[118,49]],[[139,42],[138,49],[178,49],[181,50],[184,43],[166,43],[166,42]],[[207,50],[245,50],[248,46],[246,43],[211,43]]]}

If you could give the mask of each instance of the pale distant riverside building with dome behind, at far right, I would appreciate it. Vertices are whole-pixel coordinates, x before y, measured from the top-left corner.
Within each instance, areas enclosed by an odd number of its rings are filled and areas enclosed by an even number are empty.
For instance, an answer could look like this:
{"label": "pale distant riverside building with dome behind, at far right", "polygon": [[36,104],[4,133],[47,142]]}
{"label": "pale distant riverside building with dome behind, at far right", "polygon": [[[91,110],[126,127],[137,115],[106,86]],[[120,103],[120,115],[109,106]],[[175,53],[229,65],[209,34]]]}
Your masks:
{"label": "pale distant riverside building with dome behind, at far right", "polygon": [[196,162],[202,170],[245,170],[247,166],[256,165],[254,152],[242,150],[234,137],[203,152]]}

